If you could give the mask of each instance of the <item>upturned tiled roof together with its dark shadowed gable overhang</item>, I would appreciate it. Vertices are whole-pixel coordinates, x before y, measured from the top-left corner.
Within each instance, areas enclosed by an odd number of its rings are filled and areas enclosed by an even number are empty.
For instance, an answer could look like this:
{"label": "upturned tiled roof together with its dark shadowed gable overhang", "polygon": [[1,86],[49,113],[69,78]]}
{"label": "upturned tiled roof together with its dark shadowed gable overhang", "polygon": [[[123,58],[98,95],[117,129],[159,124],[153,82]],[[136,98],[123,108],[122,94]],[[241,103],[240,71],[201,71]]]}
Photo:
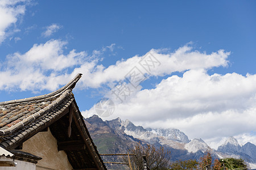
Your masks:
{"label": "upturned tiled roof together with its dark shadowed gable overhang", "polygon": [[[106,169],[84,122],[81,121],[83,119],[72,93],[81,75],[77,74],[66,86],[50,94],[1,102],[0,147],[13,150],[39,131],[49,127],[58,142],[80,140],[88,146],[86,150],[65,151],[73,167],[86,167],[86,160],[83,163],[80,161],[85,159],[82,157],[86,157],[91,160],[89,167],[93,168],[97,164],[97,169]],[[70,112],[72,113],[68,114]],[[72,124],[69,126],[72,126],[72,135],[67,137],[67,133],[59,128],[68,128],[67,121],[70,121],[70,115],[73,115],[76,122],[72,122],[71,119]]]}

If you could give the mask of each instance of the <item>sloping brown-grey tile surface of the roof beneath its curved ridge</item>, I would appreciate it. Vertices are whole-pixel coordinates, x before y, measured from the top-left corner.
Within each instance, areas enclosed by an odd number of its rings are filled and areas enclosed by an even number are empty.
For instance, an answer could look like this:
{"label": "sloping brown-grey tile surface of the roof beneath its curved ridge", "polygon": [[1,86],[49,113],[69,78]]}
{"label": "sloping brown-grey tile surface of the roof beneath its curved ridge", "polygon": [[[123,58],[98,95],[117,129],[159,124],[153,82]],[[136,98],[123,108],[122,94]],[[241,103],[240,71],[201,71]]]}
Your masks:
{"label": "sloping brown-grey tile surface of the roof beneath its curved ridge", "polygon": [[23,141],[28,135],[32,136],[49,126],[51,121],[59,117],[73,100],[71,90],[67,90],[53,100],[1,106],[3,116],[0,118],[0,135],[2,136],[0,145],[6,148],[18,146],[19,141]]}

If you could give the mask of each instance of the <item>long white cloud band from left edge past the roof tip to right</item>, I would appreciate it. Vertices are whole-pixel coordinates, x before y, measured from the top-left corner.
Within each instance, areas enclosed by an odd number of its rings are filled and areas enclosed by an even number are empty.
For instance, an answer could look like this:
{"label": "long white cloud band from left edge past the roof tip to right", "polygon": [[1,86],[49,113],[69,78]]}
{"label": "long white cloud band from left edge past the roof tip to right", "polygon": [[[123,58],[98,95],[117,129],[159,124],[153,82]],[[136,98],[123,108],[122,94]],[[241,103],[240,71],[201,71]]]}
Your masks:
{"label": "long white cloud band from left edge past the roof tip to right", "polygon": [[65,45],[67,45],[65,41],[49,40],[45,44],[33,45],[24,54],[17,52],[7,56],[5,65],[0,68],[0,74],[3,77],[0,90],[55,90],[77,73],[84,74],[79,83],[80,88],[98,88],[104,84],[125,79],[127,73],[134,66],[137,66],[142,74],[160,76],[174,71],[200,67],[210,69],[217,66],[227,66],[229,56],[229,53],[224,52],[224,50],[206,54],[193,51],[192,47],[188,45],[169,54],[162,54],[159,50],[152,49],[150,55],[159,63],[148,73],[148,68],[144,63],[154,64],[146,61],[148,58],[145,59],[145,57],[148,57],[148,54],[141,57],[134,56],[126,60],[122,59],[117,61],[115,65],[105,67],[99,65],[98,61],[101,60],[102,54],[106,50],[112,50],[114,44],[110,45],[112,48],[106,46],[100,50],[94,50],[90,55],[85,52],[76,52],[75,49],[65,52]]}

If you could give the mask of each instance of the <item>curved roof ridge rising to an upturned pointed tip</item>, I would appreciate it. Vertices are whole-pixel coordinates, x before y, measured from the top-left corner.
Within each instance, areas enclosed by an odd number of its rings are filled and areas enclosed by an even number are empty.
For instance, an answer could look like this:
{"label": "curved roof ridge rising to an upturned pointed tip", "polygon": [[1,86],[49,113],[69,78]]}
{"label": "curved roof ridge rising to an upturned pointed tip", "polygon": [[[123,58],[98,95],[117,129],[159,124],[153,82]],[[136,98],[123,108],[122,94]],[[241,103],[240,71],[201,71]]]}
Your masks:
{"label": "curved roof ridge rising to an upturned pointed tip", "polygon": [[61,93],[63,93],[64,91],[68,90],[68,89],[70,89],[72,91],[72,89],[76,86],[76,83],[79,81],[81,76],[82,76],[81,73],[77,74],[75,76],[75,78],[73,78],[72,80],[70,80],[68,82],[68,84],[66,84],[65,86],[63,86],[63,87],[59,88],[58,90],[53,91],[49,94],[35,96],[35,97],[29,97],[29,98],[19,99],[19,100],[2,101],[2,102],[0,102],[0,106],[1,105],[16,104],[16,103],[23,103],[23,102],[34,101],[34,100],[44,100],[44,99],[56,97],[56,96],[60,95]]}

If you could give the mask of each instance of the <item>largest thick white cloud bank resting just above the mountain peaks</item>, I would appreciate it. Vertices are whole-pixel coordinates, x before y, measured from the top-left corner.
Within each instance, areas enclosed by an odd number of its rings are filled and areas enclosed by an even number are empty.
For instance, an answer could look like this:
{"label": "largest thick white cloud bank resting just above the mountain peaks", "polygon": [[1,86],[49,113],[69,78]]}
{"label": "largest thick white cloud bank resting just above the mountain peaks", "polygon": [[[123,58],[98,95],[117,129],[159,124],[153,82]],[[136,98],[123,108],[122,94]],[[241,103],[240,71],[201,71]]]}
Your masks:
{"label": "largest thick white cloud bank resting just above the mountain peaks", "polygon": [[[246,135],[256,129],[254,84],[256,75],[209,75],[205,69],[191,69],[137,92],[125,103],[115,103],[115,113],[107,119],[118,116],[144,127],[177,128],[213,148],[224,137],[242,136],[238,141],[243,145],[255,139]],[[97,114],[94,108],[83,113],[92,114]]]}

